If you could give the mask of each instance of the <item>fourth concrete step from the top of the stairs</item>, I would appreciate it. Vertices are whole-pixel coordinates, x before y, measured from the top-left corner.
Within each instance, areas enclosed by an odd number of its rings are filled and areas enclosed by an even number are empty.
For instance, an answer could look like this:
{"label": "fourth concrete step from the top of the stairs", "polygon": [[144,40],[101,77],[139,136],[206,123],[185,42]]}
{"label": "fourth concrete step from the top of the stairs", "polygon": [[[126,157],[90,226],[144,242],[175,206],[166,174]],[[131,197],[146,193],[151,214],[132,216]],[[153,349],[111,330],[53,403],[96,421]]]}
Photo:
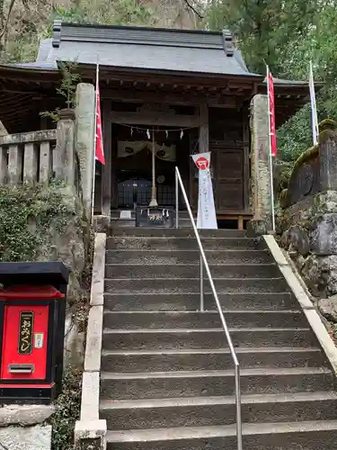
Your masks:
{"label": "fourth concrete step from the top of the stairs", "polygon": [[[275,264],[218,264],[209,266],[214,278],[275,278],[280,276]],[[204,271],[206,276],[206,272]],[[109,264],[105,266],[107,278],[197,278],[200,276],[200,263],[175,264],[174,266],[147,264]]]}

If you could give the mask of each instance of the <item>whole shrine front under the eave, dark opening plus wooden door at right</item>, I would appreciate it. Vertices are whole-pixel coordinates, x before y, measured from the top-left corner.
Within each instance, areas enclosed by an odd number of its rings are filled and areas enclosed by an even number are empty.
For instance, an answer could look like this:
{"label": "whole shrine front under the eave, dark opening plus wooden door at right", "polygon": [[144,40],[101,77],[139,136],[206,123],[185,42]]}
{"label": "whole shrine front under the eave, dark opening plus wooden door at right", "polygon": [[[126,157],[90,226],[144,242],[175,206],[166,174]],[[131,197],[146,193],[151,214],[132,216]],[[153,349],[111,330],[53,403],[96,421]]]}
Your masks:
{"label": "whole shrine front under the eave, dark opening plus wooden door at right", "polygon": [[[248,104],[238,109],[205,103],[103,105],[102,211],[154,206],[154,198],[155,205],[175,208],[175,166],[197,211],[198,170],[191,155],[210,151],[217,220],[242,226],[250,218]],[[180,195],[179,208],[186,209]]]}

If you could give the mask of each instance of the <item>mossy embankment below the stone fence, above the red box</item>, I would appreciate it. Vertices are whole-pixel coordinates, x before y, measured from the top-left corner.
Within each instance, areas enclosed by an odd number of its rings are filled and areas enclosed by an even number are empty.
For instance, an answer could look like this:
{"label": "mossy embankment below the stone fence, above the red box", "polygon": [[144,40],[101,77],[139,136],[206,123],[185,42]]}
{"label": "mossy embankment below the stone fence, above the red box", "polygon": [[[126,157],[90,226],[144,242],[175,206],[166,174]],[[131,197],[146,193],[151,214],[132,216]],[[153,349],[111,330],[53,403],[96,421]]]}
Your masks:
{"label": "mossy embankment below the stone fence, above the red box", "polygon": [[63,184],[0,186],[0,261],[61,260],[70,269],[69,301],[89,258],[90,227]]}

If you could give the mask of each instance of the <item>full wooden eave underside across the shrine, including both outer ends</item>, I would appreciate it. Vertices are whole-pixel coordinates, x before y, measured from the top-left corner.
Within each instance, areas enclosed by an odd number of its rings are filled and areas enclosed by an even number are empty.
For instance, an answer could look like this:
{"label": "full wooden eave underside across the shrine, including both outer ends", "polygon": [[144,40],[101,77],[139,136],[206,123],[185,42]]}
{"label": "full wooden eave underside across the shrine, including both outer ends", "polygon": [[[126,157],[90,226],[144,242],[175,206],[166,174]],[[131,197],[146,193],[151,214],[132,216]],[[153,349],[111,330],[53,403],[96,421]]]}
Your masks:
{"label": "full wooden eave underside across the shrine, including both outer ends", "polygon": [[[95,67],[81,65],[82,80],[95,82]],[[37,109],[54,109],[59,96],[58,70],[0,66],[0,119],[9,132],[25,130]],[[239,109],[254,94],[266,94],[264,76],[159,72],[100,67],[102,99],[121,102],[208,103]],[[275,84],[277,126],[287,121],[309,97],[307,84]],[[40,106],[39,106],[40,103]],[[44,106],[41,106],[42,103]]]}

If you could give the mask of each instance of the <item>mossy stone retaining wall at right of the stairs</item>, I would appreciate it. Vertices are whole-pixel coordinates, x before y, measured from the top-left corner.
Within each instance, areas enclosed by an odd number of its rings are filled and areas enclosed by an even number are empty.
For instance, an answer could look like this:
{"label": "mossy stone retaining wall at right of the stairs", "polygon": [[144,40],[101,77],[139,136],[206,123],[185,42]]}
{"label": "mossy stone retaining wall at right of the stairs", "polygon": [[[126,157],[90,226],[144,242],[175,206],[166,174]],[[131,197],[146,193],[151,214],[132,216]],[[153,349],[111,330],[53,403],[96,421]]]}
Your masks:
{"label": "mossy stone retaining wall at right of the stairs", "polygon": [[[280,244],[318,300],[337,321],[337,135],[325,130],[319,145],[297,159],[279,215]],[[322,308],[321,308],[322,307]]]}

